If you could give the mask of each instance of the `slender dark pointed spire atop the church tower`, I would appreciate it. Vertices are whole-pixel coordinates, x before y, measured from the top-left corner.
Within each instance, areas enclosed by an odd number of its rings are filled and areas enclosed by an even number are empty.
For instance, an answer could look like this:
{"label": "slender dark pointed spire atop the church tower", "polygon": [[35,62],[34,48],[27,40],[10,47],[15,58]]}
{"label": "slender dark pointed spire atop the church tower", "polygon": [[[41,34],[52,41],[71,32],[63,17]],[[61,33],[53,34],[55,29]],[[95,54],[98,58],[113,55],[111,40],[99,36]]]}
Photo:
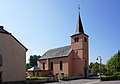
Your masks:
{"label": "slender dark pointed spire atop the church tower", "polygon": [[81,21],[81,18],[80,18],[80,7],[78,5],[78,23],[77,23],[77,27],[76,27],[76,34],[78,33],[84,33],[84,30],[83,30],[83,26],[82,26],[82,21]]}

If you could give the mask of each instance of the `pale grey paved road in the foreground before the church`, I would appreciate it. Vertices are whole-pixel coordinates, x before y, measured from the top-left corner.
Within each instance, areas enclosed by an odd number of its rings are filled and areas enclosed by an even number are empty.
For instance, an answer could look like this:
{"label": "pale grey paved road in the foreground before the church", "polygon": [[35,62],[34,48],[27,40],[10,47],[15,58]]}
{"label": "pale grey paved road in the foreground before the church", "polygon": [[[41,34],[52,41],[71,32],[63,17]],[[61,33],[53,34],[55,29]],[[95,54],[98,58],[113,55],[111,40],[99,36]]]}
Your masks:
{"label": "pale grey paved road in the foreground before the church", "polygon": [[60,81],[54,83],[45,83],[45,84],[120,84],[120,81],[104,81],[100,82],[99,79],[79,79],[71,81]]}

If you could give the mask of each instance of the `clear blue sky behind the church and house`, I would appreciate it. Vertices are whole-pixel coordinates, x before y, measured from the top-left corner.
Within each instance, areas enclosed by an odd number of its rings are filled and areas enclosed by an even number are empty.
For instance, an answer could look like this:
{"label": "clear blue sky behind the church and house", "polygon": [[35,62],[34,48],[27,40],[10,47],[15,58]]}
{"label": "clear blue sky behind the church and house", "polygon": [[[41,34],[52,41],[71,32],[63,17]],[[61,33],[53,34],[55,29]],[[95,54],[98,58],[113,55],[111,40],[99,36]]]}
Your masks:
{"label": "clear blue sky behind the church and house", "polygon": [[120,49],[120,0],[0,0],[0,25],[28,48],[30,55],[70,45],[78,21],[89,35],[89,62],[106,64]]}

